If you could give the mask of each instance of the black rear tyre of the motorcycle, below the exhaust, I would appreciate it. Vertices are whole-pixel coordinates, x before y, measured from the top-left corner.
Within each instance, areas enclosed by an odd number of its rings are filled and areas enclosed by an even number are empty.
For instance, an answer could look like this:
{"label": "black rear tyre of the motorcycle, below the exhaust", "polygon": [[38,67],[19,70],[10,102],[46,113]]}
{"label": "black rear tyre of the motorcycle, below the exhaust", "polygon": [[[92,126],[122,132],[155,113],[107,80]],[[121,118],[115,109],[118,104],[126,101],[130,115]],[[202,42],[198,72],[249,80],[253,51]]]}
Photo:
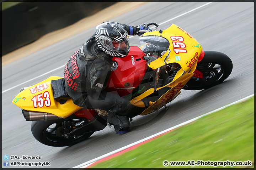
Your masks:
{"label": "black rear tyre of the motorcycle, below the exhaust", "polygon": [[[83,120],[70,119],[75,124],[81,123]],[[89,132],[87,134],[81,134],[80,136],[61,136],[60,130],[62,129],[62,123],[64,120],[48,120],[48,121],[32,121],[31,131],[39,142],[48,146],[62,147],[70,146],[85,139],[89,138],[94,132]]]}

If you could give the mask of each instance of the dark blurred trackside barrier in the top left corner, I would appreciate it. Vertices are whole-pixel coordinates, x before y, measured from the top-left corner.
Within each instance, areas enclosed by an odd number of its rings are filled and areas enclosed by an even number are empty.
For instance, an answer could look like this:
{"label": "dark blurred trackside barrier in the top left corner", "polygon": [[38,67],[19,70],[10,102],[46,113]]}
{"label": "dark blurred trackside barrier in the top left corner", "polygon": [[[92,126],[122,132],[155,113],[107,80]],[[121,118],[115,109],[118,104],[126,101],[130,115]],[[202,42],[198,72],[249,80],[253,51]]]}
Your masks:
{"label": "dark blurred trackside barrier in the top left corner", "polygon": [[2,2],[2,55],[116,2]]}

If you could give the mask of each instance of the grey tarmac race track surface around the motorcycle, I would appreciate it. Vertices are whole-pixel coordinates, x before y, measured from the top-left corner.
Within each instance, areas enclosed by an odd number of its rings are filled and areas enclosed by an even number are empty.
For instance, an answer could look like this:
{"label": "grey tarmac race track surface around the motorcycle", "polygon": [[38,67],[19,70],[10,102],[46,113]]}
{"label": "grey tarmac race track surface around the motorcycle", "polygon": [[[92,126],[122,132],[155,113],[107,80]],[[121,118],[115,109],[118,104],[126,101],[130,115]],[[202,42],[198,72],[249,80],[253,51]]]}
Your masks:
{"label": "grey tarmac race track surface around the motorcycle", "polygon": [[[206,2],[149,2],[111,21],[131,25],[163,23],[203,4]],[[167,111],[160,109],[156,113],[135,117],[127,134],[115,134],[113,126],[107,126],[74,146],[50,147],[34,139],[31,122],[24,120],[21,109],[11,101],[22,87],[34,85],[53,75],[63,77],[64,68],[55,70],[2,94],[2,154],[39,155],[42,157],[40,160],[9,161],[46,161],[51,165],[47,168],[72,168],[254,93],[253,2],[213,2],[161,24],[158,30],[166,29],[172,23],[190,33],[204,51],[220,51],[228,55],[233,61],[230,77],[208,90],[181,90],[180,96],[167,104]],[[94,30],[88,29],[3,66],[2,90],[63,66]],[[138,36],[130,38],[130,43],[139,46]],[[12,166],[16,167],[26,166]]]}

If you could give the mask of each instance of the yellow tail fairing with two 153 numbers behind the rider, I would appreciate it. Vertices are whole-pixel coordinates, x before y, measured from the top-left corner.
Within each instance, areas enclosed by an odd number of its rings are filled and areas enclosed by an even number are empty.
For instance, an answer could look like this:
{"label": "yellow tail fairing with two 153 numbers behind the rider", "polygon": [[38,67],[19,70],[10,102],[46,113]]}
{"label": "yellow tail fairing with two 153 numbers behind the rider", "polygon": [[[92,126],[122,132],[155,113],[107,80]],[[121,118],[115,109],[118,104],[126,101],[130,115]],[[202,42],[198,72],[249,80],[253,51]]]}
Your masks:
{"label": "yellow tail fairing with two 153 numbers behind the rider", "polygon": [[12,100],[12,103],[28,111],[52,113],[60,118],[70,116],[82,107],[75,105],[71,99],[67,100],[64,104],[54,100],[51,80],[60,78],[62,77],[49,77],[36,85],[28,87],[21,91]]}

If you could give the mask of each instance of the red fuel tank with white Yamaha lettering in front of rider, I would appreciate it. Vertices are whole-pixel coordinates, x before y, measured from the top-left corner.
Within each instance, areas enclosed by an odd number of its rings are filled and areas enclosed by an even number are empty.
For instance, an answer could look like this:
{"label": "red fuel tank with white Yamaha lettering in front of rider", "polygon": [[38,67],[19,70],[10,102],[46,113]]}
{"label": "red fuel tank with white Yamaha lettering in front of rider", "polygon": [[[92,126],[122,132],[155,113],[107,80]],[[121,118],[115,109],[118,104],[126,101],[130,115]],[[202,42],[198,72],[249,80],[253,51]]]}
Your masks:
{"label": "red fuel tank with white Yamaha lettering in front of rider", "polygon": [[118,63],[116,70],[111,72],[106,91],[116,91],[120,96],[128,95],[142,81],[148,65],[143,60],[144,52],[137,46],[130,46],[126,57],[114,57]]}

